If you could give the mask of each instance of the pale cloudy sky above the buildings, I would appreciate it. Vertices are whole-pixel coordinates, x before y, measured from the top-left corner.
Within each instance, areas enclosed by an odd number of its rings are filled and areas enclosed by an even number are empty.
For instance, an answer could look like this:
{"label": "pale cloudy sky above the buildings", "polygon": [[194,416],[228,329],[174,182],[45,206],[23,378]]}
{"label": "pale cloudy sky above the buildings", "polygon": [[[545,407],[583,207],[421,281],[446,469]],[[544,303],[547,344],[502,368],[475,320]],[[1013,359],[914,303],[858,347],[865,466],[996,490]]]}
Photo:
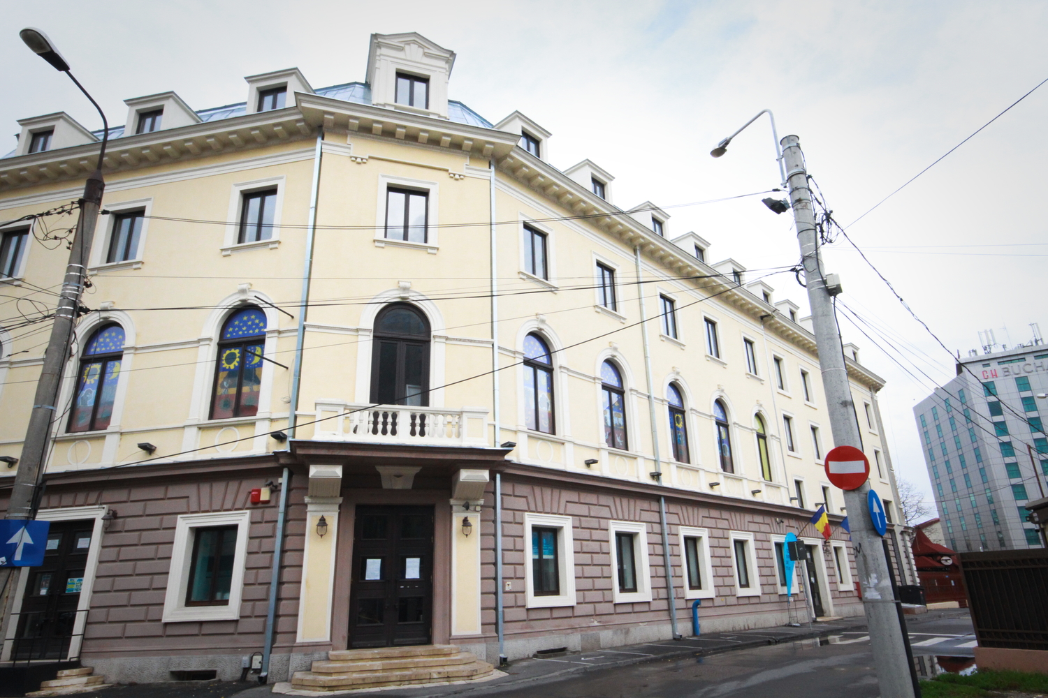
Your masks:
{"label": "pale cloudy sky above the buildings", "polygon": [[[850,225],[1048,77],[1048,3],[9,3],[0,123],[10,134],[17,119],[56,111],[102,126],[22,45],[23,26],[47,32],[113,123],[124,99],[174,90],[195,109],[242,102],[244,75],[290,66],[314,88],[363,81],[370,33],[418,31],[457,53],[451,98],[493,122],[520,110],[553,133],[554,165],[593,160],[616,178],[616,204],[665,207],[670,238],[694,230],[712,243],[707,260],[735,258],[751,278],[796,262],[790,217],[761,197],[683,204],[779,185],[766,116],[724,157],[708,155],[770,109],[780,137],[800,136],[833,217],[946,347],[966,355],[985,329],[1009,346],[1030,340],[1030,322],[1048,332],[1035,286],[1048,257],[1036,203],[1048,85]],[[0,138],[0,151],[14,145]],[[952,357],[843,238],[824,250],[838,301],[869,323],[867,337],[842,318],[844,339],[888,381],[896,472],[934,508],[913,406],[954,375]],[[792,274],[765,280],[777,300],[807,307]]]}

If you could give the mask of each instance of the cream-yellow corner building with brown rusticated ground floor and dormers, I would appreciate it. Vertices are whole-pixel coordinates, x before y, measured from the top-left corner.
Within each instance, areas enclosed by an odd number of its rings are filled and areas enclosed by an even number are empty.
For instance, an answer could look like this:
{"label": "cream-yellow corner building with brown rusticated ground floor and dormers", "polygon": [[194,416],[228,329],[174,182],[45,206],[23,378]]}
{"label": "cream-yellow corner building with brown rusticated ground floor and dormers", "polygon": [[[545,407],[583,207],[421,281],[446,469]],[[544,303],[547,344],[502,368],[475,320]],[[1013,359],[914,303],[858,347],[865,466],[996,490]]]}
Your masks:
{"label": "cream-yellow corner building with brown rusticated ground floor and dormers", "polygon": [[[496,663],[664,639],[699,599],[709,630],[861,612],[798,306],[617,205],[595,163],[558,170],[524,114],[449,99],[454,60],[374,35],[362,83],[127,100],[41,492],[54,559],[17,578],[23,617],[59,612],[41,573],[75,583],[65,625],[12,623],[0,660],[234,677],[268,640],[279,679],[347,648]],[[99,148],[64,114],[21,123],[0,159],[14,458],[72,221],[23,217],[74,201]],[[883,381],[847,351],[891,509]],[[792,604],[789,532],[815,554]]]}

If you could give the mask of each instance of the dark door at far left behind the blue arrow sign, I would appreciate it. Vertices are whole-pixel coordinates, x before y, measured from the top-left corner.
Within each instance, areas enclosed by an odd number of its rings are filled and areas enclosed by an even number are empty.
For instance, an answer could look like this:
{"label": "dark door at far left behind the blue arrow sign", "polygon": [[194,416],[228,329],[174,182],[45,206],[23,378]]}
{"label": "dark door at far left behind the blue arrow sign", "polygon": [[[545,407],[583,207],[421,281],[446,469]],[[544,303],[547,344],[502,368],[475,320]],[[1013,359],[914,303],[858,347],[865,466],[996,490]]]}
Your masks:
{"label": "dark door at far left behind the blue arrow sign", "polygon": [[29,568],[12,659],[66,658],[93,528],[93,520],[51,523],[44,563]]}

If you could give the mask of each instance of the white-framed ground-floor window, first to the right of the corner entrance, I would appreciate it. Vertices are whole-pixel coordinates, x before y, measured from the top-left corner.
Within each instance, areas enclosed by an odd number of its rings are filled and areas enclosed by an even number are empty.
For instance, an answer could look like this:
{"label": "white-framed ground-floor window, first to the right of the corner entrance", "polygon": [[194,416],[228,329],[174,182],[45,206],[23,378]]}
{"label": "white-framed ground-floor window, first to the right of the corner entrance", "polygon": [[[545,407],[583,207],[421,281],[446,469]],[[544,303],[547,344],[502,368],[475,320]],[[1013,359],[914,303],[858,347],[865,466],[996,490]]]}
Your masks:
{"label": "white-framed ground-floor window, first to the right of the corner entrance", "polygon": [[524,513],[528,608],[575,605],[574,542],[571,517]]}

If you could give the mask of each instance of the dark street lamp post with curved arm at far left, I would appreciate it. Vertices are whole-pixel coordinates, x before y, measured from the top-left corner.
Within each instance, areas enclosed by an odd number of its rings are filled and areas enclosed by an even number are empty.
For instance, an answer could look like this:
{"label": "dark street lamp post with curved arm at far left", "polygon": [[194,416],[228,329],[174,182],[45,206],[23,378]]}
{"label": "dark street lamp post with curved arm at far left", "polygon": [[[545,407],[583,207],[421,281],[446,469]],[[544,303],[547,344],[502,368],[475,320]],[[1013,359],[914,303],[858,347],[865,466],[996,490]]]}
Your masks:
{"label": "dark street lamp post with curved arm at far left", "polygon": [[[7,509],[8,519],[32,519],[37,515],[40,505],[39,489],[40,480],[45,466],[45,454],[50,441],[50,433],[53,421],[61,410],[58,405],[59,387],[62,382],[62,370],[69,355],[69,344],[80,308],[80,297],[84,291],[84,282],[87,278],[87,257],[91,249],[91,240],[94,237],[94,226],[99,219],[99,208],[102,205],[102,193],[105,189],[105,182],[102,178],[102,163],[106,156],[106,144],[109,140],[109,122],[103,113],[99,103],[94,100],[84,86],[73,77],[62,54],[59,53],[54,45],[40,29],[26,27],[19,32],[22,41],[35,53],[51,64],[57,70],[64,72],[69,80],[80,88],[80,91],[90,99],[94,108],[102,116],[103,136],[102,150],[99,152],[99,163],[94,172],[87,176],[84,184],[84,195],[80,199],[80,218],[77,221],[77,228],[70,241],[69,262],[66,266],[65,278],[62,284],[62,291],[59,295],[58,308],[54,311],[54,321],[51,324],[51,336],[44,352],[44,364],[40,371],[40,379],[37,381],[37,392],[32,400],[32,411],[29,414],[29,426],[25,432],[25,441],[22,444],[22,456],[18,460],[18,472],[15,475],[15,483],[12,488],[10,503]],[[0,578],[0,588],[7,591],[3,622],[0,623],[0,638],[7,636],[6,628],[10,618],[10,609],[14,603],[14,584],[10,584],[9,577],[14,573],[15,567],[4,567],[0,569],[5,577]],[[2,641],[2,640],[0,640]]]}

